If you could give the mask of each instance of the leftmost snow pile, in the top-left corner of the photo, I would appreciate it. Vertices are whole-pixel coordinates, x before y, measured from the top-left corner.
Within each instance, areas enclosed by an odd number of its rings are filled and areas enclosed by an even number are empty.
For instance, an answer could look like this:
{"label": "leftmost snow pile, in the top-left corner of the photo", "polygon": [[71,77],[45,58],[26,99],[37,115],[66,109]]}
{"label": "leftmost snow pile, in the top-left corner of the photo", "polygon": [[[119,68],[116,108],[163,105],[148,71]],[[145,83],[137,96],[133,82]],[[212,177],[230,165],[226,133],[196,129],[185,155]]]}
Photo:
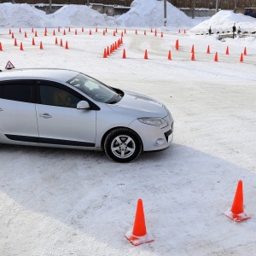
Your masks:
{"label": "leftmost snow pile, in the top-left corner of the photo", "polygon": [[47,18],[44,11],[29,4],[0,4],[0,26],[37,26],[43,27]]}

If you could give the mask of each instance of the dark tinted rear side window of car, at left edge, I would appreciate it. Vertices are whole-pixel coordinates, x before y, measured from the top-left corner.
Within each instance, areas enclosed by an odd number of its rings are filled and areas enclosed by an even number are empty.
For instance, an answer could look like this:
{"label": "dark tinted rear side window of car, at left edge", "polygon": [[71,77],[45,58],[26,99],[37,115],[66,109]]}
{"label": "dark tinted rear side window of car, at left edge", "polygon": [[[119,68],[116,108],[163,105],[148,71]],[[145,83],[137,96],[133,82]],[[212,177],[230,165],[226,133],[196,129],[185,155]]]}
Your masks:
{"label": "dark tinted rear side window of car, at left edge", "polygon": [[32,84],[0,84],[0,98],[31,103],[32,87]]}

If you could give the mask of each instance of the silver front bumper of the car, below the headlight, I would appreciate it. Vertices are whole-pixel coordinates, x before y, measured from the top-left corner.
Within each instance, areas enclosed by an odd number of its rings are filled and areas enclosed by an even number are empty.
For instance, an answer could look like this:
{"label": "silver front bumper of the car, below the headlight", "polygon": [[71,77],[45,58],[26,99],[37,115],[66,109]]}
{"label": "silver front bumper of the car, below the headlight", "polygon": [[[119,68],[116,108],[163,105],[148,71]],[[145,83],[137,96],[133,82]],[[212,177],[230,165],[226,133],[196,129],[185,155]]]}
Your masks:
{"label": "silver front bumper of the car, below the headlight", "polygon": [[129,125],[133,131],[136,131],[143,141],[144,151],[154,151],[168,148],[173,139],[173,121],[170,125],[160,129],[154,125],[146,125],[137,119]]}

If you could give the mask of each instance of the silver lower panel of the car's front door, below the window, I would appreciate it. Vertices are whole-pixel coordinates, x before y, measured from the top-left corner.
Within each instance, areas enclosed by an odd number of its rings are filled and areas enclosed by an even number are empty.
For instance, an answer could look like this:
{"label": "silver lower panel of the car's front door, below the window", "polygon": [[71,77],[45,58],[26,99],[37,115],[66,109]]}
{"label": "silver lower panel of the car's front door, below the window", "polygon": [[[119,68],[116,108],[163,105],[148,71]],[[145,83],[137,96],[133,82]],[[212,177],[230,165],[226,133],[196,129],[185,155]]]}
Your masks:
{"label": "silver lower panel of the car's front door, below the window", "polygon": [[[96,111],[37,104],[41,143],[95,146]],[[81,144],[84,143],[84,144]]]}

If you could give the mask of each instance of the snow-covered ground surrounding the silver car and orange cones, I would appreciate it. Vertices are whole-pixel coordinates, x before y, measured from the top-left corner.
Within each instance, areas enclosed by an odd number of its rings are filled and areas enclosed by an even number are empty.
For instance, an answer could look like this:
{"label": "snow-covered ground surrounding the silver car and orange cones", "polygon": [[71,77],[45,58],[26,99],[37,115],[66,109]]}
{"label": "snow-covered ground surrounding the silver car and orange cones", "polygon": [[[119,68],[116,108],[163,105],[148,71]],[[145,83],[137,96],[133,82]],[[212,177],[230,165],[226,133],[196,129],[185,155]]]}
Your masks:
{"label": "snow-covered ground surrounding the silver car and orange cones", "polygon": [[[3,6],[0,12],[9,17]],[[14,19],[23,12],[21,7]],[[154,1],[151,7],[156,8]],[[38,10],[33,11],[27,15],[36,22]],[[119,25],[115,37],[116,27],[108,26],[103,36],[105,21],[95,32],[92,25],[72,21],[67,25],[69,16],[60,32],[53,19],[44,36],[45,23],[26,26],[26,16],[13,26],[1,13],[1,69],[7,61],[16,68],[70,68],[114,87],[153,96],[172,112],[174,141],[165,151],[142,154],[123,165],[108,160],[103,152],[1,145],[0,254],[254,255],[255,37],[221,42],[213,35],[178,33],[169,26],[161,38],[156,24],[146,28],[138,24],[137,35],[133,27]],[[232,19],[239,22],[240,15]],[[64,26],[72,26],[71,32]],[[157,37],[150,26],[158,29]],[[222,26],[230,26],[230,20]],[[125,28],[124,44],[102,58],[103,49],[117,41]],[[188,26],[181,23],[180,28]],[[69,49],[55,44],[55,38],[59,44],[61,39],[64,45],[68,42]],[[40,42],[44,49],[39,49]],[[195,61],[191,61],[193,44]],[[228,46],[230,55],[225,55]],[[245,47],[247,55],[240,62]],[[143,59],[145,49],[148,60]],[[172,61],[167,60],[169,50]],[[218,61],[213,61],[216,52]],[[236,223],[223,212],[231,207],[240,179],[244,209],[252,218]],[[147,230],[154,241],[134,247],[125,233],[133,225],[138,198],[143,199]]]}

